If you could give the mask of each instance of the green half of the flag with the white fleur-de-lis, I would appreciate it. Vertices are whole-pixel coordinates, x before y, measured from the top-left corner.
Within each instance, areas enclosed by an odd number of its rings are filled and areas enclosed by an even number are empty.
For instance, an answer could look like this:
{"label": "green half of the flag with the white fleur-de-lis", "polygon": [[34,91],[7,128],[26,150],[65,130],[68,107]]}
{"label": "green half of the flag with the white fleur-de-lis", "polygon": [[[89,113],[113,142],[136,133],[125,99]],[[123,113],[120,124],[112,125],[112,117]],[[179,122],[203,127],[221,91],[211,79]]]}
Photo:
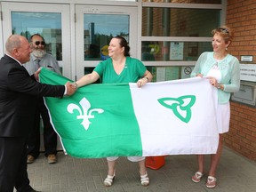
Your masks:
{"label": "green half of the flag with the white fleur-de-lis", "polygon": [[[41,83],[68,81],[46,68],[41,69]],[[142,156],[129,84],[90,84],[71,97],[45,98],[45,103],[68,155]]]}

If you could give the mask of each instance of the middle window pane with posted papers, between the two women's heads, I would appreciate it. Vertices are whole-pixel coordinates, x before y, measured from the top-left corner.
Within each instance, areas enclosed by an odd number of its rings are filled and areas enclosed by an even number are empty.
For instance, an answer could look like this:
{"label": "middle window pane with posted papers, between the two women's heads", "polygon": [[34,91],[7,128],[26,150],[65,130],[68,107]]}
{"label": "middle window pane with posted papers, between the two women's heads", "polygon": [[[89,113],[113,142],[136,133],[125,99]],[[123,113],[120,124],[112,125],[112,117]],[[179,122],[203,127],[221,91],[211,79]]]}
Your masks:
{"label": "middle window pane with posted papers, between the two women's heads", "polygon": [[[166,46],[169,44],[169,46]],[[202,52],[212,52],[212,42],[142,42],[142,61],[197,60]]]}

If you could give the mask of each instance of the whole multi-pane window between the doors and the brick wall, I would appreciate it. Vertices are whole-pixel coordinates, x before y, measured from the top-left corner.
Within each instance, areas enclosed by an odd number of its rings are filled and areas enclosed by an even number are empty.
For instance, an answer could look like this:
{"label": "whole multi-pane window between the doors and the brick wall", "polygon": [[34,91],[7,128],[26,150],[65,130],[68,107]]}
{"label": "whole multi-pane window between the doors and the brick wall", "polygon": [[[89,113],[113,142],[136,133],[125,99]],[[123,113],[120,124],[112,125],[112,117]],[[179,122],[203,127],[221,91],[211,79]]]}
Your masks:
{"label": "whole multi-pane window between the doors and the brick wall", "polygon": [[221,0],[142,0],[141,55],[153,81],[188,78],[212,29],[225,21]]}

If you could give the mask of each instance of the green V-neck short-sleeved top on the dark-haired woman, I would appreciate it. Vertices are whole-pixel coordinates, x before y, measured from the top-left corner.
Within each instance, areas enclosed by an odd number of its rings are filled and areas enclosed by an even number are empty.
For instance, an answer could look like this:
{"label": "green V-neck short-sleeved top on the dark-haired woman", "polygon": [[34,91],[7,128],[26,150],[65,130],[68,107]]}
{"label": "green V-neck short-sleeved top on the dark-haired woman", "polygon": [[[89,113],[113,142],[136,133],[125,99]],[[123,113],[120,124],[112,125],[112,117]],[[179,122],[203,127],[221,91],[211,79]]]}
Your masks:
{"label": "green V-neck short-sleeved top on the dark-haired woman", "polygon": [[94,68],[94,71],[99,74],[102,84],[136,83],[146,70],[147,68],[140,60],[131,57],[126,57],[124,69],[119,75],[116,74],[111,58],[101,61]]}

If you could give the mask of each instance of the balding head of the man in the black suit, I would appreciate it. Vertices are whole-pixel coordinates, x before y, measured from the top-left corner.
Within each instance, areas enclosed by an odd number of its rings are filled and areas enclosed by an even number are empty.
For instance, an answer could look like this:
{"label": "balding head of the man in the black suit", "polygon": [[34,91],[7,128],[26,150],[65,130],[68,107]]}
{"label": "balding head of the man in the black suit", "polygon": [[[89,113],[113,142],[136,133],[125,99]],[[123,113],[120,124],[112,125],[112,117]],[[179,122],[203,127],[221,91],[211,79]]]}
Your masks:
{"label": "balding head of the man in the black suit", "polygon": [[28,62],[30,58],[31,49],[25,36],[9,36],[5,43],[5,50],[7,54],[22,64]]}

